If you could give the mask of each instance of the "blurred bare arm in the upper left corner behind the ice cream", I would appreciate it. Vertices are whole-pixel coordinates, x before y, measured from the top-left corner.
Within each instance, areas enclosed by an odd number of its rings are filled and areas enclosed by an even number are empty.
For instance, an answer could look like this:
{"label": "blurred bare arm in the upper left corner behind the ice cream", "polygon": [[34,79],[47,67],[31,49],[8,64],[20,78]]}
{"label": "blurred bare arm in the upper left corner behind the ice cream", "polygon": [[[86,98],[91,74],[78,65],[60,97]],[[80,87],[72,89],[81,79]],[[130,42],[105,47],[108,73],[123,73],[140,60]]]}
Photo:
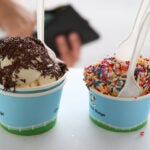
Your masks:
{"label": "blurred bare arm in the upper left corner behind the ice cream", "polygon": [[19,0],[0,0],[0,27],[8,36],[30,36],[36,15]]}

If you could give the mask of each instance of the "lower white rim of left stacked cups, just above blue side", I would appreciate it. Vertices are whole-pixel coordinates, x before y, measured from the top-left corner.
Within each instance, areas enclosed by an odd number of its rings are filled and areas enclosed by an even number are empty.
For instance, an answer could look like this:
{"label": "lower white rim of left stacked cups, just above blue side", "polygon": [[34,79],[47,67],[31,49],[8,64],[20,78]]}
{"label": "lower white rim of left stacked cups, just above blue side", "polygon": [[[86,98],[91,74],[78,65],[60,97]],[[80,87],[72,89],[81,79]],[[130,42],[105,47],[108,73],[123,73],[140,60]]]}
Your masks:
{"label": "lower white rim of left stacked cups, just above blue side", "polygon": [[20,94],[20,93],[10,93],[10,92],[7,92],[7,91],[0,90],[0,94],[10,96],[10,97],[20,97],[20,98],[23,98],[23,97],[27,97],[27,98],[28,97],[39,97],[39,96],[44,96],[44,95],[47,95],[47,94],[54,93],[55,91],[62,88],[65,83],[66,83],[66,81],[64,81],[61,85],[57,86],[54,89],[51,89],[51,90],[48,90],[48,91],[45,91],[45,92],[40,92],[40,93],[32,93],[32,94],[31,93],[30,94],[22,93],[22,94]]}

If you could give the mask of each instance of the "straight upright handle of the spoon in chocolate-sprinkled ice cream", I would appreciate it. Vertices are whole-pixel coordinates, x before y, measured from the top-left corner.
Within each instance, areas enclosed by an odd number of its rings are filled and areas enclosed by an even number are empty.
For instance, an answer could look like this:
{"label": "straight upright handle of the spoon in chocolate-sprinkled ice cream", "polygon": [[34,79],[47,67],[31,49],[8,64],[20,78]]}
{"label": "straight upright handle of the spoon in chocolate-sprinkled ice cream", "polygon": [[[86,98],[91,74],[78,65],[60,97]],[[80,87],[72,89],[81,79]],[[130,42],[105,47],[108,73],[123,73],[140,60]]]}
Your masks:
{"label": "straight upright handle of the spoon in chocolate-sprinkled ice cream", "polygon": [[44,42],[44,0],[37,0],[37,36]]}

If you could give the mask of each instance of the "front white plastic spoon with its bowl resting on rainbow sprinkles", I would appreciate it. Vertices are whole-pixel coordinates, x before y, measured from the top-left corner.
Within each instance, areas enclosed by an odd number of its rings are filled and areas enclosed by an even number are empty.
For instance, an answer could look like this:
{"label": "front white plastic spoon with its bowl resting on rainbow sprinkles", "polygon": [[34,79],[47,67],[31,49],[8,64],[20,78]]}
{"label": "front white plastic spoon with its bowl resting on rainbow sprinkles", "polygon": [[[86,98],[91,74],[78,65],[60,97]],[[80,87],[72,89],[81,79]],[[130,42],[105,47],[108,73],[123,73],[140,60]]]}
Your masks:
{"label": "front white plastic spoon with its bowl resting on rainbow sprinkles", "polygon": [[149,32],[150,28],[150,13],[146,15],[144,21],[140,26],[140,30],[138,32],[138,37],[136,42],[134,43],[134,51],[132,53],[132,58],[130,61],[128,73],[127,73],[127,80],[123,89],[119,93],[119,97],[138,97],[140,96],[142,89],[139,87],[138,83],[135,81],[134,78],[134,71],[136,68],[136,63],[143,48],[143,44],[145,38]]}

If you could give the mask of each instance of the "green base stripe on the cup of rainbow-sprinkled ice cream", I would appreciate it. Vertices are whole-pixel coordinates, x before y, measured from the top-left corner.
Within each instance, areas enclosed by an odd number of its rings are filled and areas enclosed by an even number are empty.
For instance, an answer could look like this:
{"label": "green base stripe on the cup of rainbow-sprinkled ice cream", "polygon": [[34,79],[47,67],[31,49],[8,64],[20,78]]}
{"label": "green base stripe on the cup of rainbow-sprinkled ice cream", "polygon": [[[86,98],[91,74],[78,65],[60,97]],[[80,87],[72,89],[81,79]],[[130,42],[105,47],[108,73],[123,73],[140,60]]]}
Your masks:
{"label": "green base stripe on the cup of rainbow-sprinkled ice cream", "polygon": [[130,129],[120,129],[120,128],[115,128],[115,127],[106,125],[106,124],[104,124],[104,123],[102,123],[100,121],[97,121],[92,116],[90,116],[90,119],[97,126],[103,128],[103,129],[106,129],[106,130],[113,131],[113,132],[132,132],[132,131],[136,131],[136,130],[139,130],[139,129],[143,128],[147,124],[147,121],[148,121],[148,120],[146,120],[143,123],[141,123],[140,125],[138,125],[136,127],[133,127],[133,128],[130,128]]}

